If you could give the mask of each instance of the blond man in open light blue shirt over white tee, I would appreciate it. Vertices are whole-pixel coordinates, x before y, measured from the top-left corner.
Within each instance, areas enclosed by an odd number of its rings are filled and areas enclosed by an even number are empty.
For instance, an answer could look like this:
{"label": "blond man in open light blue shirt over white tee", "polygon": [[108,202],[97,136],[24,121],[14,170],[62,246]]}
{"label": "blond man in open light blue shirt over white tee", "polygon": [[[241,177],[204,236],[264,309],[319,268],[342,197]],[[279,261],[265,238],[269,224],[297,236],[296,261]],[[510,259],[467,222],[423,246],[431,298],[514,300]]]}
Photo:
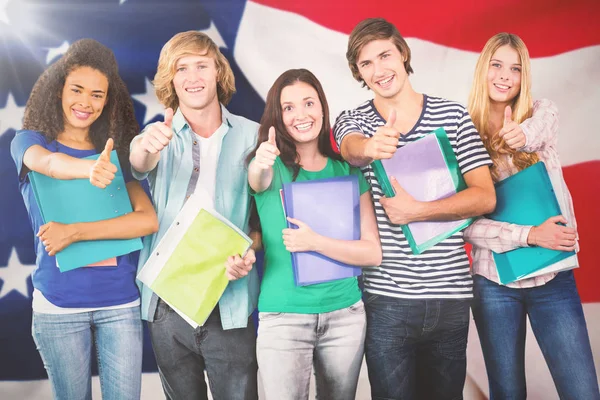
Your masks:
{"label": "blond man in open light blue shirt over white tee", "polygon": [[[136,137],[130,156],[134,176],[148,178],[160,221],[159,231],[146,239],[139,267],[192,193],[248,231],[248,177],[240,165],[254,148],[258,129],[225,108],[235,92],[233,72],[203,33],[182,32],[164,45],[154,87],[166,108],[164,122]],[[258,398],[250,318],[258,295],[254,261],[254,251],[244,258],[231,255],[230,283],[206,323],[196,328],[142,287],[142,318],[167,398],[207,399],[205,370],[215,400]]]}

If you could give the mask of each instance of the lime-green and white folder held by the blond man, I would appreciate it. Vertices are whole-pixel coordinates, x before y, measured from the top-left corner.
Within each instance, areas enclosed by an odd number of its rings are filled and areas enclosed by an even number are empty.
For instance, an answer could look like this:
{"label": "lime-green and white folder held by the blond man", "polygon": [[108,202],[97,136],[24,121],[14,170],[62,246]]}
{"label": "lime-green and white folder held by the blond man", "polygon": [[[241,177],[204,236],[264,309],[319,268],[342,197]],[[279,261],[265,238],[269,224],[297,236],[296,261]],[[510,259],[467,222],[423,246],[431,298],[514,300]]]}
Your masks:
{"label": "lime-green and white folder held by the blond man", "polygon": [[202,325],[229,282],[227,259],[244,255],[252,240],[216,212],[198,210],[196,200],[195,196],[187,200],[138,279],[184,317]]}

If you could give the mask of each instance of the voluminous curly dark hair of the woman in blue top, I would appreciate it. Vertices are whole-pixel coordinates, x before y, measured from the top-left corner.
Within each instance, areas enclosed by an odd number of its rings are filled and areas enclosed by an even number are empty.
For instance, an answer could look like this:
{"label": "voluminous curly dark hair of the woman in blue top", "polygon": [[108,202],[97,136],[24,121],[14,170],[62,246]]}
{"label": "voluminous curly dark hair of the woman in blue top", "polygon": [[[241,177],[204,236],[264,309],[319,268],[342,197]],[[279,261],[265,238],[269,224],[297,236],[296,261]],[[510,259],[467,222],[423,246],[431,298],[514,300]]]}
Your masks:
{"label": "voluminous curly dark hair of the woman in blue top", "polygon": [[129,144],[139,133],[133,102],[127,86],[119,76],[113,52],[93,39],[74,42],[64,56],[48,67],[31,90],[25,106],[23,128],[40,132],[48,143],[64,130],[62,91],[69,73],[79,67],[100,71],[108,79],[107,101],[102,114],[90,127],[90,140],[101,152],[108,138],[113,138],[121,164],[129,159]]}

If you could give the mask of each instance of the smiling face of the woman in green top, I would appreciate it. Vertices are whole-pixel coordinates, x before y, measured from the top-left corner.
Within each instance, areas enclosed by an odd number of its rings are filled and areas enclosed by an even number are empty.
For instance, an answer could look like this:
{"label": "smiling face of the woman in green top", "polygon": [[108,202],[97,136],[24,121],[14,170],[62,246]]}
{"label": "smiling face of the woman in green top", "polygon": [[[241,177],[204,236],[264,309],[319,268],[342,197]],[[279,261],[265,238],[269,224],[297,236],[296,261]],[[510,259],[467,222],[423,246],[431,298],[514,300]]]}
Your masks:
{"label": "smiling face of the woman in green top", "polygon": [[296,143],[317,141],[323,127],[319,94],[308,83],[296,82],[281,91],[283,125]]}

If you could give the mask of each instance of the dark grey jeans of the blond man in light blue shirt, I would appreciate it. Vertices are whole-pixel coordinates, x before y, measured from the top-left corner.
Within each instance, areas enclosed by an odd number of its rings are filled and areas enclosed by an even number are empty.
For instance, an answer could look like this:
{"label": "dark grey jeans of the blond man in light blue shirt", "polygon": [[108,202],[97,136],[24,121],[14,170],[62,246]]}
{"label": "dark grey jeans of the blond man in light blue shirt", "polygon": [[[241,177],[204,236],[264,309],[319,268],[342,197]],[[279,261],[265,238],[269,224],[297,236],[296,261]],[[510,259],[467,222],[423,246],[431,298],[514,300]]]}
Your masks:
{"label": "dark grey jeans of the blond man in light blue shirt", "polygon": [[150,338],[167,399],[206,400],[208,376],[214,400],[257,400],[256,330],[223,330],[218,306],[193,329],[159,300]]}

